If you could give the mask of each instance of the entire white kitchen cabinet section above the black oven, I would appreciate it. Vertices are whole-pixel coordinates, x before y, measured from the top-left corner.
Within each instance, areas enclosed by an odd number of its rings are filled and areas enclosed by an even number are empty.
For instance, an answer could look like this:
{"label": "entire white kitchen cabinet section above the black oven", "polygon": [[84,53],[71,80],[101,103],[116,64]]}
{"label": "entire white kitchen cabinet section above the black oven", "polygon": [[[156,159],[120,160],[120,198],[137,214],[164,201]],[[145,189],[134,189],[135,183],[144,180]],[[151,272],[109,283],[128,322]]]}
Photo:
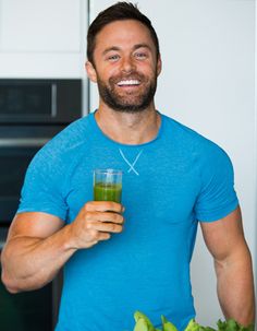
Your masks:
{"label": "entire white kitchen cabinet section above the black oven", "polygon": [[0,78],[81,78],[87,1],[0,0]]}

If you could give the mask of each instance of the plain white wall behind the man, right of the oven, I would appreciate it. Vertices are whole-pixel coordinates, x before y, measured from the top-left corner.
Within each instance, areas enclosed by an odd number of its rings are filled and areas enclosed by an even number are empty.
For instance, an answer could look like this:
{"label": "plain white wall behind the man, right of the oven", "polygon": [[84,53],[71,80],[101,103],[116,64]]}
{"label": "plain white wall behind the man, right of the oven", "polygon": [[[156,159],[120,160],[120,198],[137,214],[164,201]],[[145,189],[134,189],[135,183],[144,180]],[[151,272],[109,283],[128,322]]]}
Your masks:
{"label": "plain white wall behind the man, right of the oven", "polygon": [[[114,3],[91,0],[91,19]],[[255,1],[136,1],[160,38],[157,108],[220,144],[230,155],[245,236],[256,262]],[[91,86],[91,110],[97,107]],[[255,263],[256,270],[256,263]],[[198,232],[192,263],[197,320],[222,317],[210,255]]]}

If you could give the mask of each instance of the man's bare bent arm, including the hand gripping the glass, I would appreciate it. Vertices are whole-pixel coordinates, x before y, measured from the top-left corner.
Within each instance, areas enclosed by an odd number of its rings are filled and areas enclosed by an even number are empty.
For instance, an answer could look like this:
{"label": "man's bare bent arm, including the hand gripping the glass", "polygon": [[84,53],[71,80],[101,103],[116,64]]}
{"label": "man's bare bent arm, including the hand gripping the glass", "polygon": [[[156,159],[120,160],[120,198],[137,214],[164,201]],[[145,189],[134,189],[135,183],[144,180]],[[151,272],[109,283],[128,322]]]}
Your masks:
{"label": "man's bare bent arm, including the hand gripping the glass", "polygon": [[1,253],[4,285],[16,293],[49,283],[76,250],[109,239],[110,233],[120,233],[121,212],[121,204],[115,202],[88,202],[65,226],[46,213],[17,214]]}

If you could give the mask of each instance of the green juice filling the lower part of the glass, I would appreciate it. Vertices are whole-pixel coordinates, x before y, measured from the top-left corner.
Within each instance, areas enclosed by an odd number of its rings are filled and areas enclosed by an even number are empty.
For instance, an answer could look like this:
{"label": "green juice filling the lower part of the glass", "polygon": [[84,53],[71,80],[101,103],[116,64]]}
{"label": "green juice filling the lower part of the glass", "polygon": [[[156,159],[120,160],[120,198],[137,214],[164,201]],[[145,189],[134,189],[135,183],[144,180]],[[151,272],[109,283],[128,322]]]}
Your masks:
{"label": "green juice filling the lower part of the glass", "polygon": [[114,201],[121,203],[121,184],[97,182],[94,186],[95,201]]}

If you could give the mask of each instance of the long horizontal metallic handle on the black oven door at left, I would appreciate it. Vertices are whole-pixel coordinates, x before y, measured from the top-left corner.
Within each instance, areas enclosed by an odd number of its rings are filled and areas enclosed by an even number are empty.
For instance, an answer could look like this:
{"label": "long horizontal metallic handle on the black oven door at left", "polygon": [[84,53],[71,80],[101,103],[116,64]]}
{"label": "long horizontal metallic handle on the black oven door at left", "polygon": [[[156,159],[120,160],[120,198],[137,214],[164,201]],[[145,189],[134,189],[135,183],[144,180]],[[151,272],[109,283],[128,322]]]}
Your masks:
{"label": "long horizontal metallic handle on the black oven door at left", "polygon": [[41,147],[51,138],[0,138],[0,147]]}

